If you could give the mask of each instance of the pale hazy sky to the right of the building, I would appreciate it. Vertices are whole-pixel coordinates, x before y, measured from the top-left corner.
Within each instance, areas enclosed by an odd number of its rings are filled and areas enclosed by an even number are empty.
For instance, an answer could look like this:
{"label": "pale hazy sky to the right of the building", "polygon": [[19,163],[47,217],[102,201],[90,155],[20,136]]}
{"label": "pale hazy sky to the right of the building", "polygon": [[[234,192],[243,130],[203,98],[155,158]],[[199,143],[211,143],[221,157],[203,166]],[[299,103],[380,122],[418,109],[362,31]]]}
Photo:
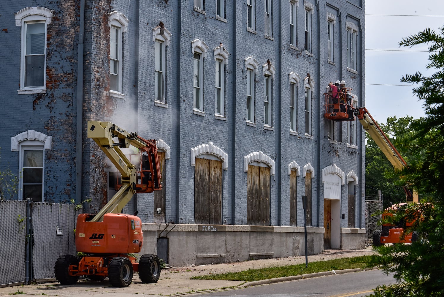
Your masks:
{"label": "pale hazy sky to the right of the building", "polygon": [[400,48],[399,42],[425,28],[438,32],[443,26],[443,0],[365,1],[365,107],[379,123],[389,116],[425,116],[412,84],[400,79],[417,71],[427,76],[435,72],[425,68],[428,46]]}

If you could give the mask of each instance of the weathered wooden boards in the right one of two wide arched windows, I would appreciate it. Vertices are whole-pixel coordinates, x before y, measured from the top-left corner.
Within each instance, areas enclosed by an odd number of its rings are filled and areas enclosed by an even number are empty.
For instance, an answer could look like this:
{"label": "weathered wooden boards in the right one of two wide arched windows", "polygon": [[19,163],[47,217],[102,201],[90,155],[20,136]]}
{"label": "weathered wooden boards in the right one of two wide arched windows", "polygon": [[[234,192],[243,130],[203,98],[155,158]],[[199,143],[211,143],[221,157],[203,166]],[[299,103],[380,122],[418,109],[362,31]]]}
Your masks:
{"label": "weathered wooden boards in the right one of two wide arched windows", "polygon": [[270,225],[270,168],[248,165],[247,224]]}

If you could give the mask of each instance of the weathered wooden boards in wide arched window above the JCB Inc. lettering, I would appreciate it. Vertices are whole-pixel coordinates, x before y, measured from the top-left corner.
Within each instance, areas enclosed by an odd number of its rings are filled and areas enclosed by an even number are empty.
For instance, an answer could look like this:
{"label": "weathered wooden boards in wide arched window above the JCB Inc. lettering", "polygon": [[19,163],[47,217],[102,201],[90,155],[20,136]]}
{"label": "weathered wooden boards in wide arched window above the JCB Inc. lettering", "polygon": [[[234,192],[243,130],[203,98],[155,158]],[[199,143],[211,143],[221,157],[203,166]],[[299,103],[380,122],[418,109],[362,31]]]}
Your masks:
{"label": "weathered wooden boards in wide arched window above the JCB Inc. lettering", "polygon": [[196,158],[194,223],[222,224],[222,161]]}

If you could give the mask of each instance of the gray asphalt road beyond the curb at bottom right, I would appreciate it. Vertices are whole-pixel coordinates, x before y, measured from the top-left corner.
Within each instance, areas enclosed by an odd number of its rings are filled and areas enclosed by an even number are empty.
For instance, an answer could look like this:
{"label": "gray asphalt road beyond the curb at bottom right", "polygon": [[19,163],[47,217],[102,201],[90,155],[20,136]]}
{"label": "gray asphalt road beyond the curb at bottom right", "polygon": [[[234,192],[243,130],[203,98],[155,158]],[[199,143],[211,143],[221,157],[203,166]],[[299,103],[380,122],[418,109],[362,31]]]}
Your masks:
{"label": "gray asphalt road beyond the curb at bottom right", "polygon": [[364,297],[373,293],[372,289],[377,285],[394,282],[391,275],[387,276],[381,270],[375,269],[188,296]]}

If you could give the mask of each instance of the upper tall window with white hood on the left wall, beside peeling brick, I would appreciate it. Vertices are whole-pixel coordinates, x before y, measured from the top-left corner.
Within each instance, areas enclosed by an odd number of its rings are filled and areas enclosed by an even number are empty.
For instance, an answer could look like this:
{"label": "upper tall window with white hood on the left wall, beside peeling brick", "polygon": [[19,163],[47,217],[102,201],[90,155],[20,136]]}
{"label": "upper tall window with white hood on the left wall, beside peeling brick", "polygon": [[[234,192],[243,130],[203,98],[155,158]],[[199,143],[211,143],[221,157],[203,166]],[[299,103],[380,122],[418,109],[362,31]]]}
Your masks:
{"label": "upper tall window with white hood on the left wall, beside peeling brick", "polygon": [[46,26],[52,12],[44,7],[27,7],[16,15],[22,27],[19,93],[44,92],[46,88]]}

